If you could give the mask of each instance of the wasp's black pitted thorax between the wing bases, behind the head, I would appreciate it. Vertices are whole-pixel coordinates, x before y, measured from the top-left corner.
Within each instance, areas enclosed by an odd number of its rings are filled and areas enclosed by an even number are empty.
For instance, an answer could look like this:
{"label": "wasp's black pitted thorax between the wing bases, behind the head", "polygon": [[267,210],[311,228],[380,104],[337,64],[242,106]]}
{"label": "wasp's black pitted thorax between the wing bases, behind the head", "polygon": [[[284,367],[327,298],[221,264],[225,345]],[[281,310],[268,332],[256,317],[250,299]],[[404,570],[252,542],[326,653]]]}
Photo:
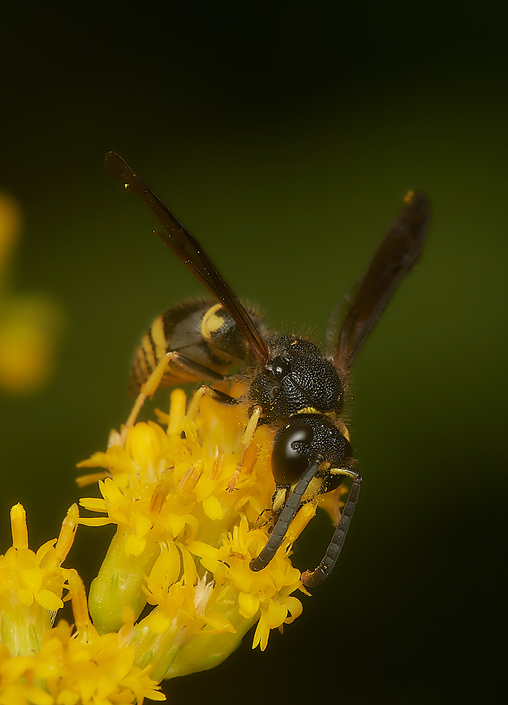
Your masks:
{"label": "wasp's black pitted thorax between the wing bases, behind the head", "polygon": [[262,407],[265,423],[294,414],[338,415],[344,387],[337,369],[317,345],[296,336],[271,338],[272,357],[254,368],[249,399]]}

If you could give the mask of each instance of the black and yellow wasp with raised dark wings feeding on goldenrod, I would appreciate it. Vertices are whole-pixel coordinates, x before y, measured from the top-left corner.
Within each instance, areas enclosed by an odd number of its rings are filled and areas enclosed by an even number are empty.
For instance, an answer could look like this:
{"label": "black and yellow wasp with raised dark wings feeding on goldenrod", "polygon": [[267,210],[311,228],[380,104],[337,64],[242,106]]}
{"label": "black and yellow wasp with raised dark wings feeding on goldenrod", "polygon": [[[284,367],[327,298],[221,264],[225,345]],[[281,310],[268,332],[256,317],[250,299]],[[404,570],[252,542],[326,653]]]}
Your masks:
{"label": "black and yellow wasp with raised dark wings feeding on goldenrod", "polygon": [[131,391],[139,390],[169,351],[172,360],[162,379],[167,386],[227,381],[234,366],[243,364],[246,393],[232,398],[215,391],[216,398],[259,406],[260,423],[275,430],[274,527],[265,547],[250,561],[250,569],[261,570],[270,563],[301,505],[352,480],[325,556],[315,570],[302,574],[306,587],[316,587],[337,563],[361,489],[362,475],[342,420],[351,365],[421,253],[430,214],[427,198],[418,191],[406,195],[365,275],[346,296],[343,319],[339,321],[338,311],[344,305],[332,314],[331,328],[339,333],[331,352],[323,353],[301,336],[271,335],[261,317],[241,304],[193,235],[119,154],[107,154],[106,168],[152,209],[165,228],[156,231],[158,237],[213,297],[183,303],[156,319],[135,356]]}

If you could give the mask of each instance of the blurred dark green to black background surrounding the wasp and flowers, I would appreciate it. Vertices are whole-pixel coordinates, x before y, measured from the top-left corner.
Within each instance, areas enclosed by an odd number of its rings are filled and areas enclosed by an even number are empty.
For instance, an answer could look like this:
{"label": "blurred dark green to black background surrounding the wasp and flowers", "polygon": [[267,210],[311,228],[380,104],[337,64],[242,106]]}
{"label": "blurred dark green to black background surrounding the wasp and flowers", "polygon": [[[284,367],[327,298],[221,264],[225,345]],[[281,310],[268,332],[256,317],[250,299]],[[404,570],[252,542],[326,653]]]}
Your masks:
{"label": "blurred dark green to black background surrounding the wasp and flowers", "polygon": [[[140,333],[201,293],[151,234],[150,212],[104,172],[107,150],[279,330],[322,335],[406,190],[433,204],[421,263],[355,365],[365,482],[339,567],[264,654],[248,637],[220,668],[171,683],[174,701],[497,696],[508,221],[498,7],[2,8],[0,186],[25,215],[16,282],[58,298],[66,329],[52,384],[0,399],[1,551],[17,501],[32,547],[56,536],[78,497],[75,462],[126,418]],[[319,560],[329,534],[315,520],[296,564]],[[80,529],[69,565],[90,579],[107,535]]]}

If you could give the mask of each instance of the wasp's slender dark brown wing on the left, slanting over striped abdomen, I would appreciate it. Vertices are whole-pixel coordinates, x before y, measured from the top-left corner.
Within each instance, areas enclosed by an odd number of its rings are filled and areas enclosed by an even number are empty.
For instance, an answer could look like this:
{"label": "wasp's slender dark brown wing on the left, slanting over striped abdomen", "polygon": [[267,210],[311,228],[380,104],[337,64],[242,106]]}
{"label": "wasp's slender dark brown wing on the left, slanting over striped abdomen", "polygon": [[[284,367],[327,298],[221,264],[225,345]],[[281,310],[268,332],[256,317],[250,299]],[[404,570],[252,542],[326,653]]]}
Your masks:
{"label": "wasp's slender dark brown wing on the left, slanting over striped abdomen", "polygon": [[241,333],[246,337],[251,350],[258,360],[263,364],[267,362],[270,353],[265,339],[262,338],[253,321],[250,320],[246,309],[238,301],[198,241],[164,206],[145,182],[134,173],[131,167],[123,161],[119,154],[108,152],[105,164],[109,173],[116,176],[126,188],[133,191],[135,195],[150,206],[167,231],[164,233],[156,231],[156,235],[185,264],[195,278],[224,306]]}

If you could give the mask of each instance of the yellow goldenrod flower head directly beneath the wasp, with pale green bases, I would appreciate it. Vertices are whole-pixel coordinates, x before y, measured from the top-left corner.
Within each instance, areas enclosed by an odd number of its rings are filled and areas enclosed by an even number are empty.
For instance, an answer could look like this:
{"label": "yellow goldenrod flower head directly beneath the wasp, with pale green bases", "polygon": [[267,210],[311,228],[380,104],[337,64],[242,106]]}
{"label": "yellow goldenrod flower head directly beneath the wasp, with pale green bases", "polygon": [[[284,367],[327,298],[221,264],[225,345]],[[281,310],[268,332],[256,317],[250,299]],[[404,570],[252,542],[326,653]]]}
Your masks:
{"label": "yellow goldenrod flower head directly beneath the wasp, with pale green bases", "polygon": [[265,649],[270,629],[301,613],[289,553],[315,511],[306,505],[270,565],[251,571],[267,541],[267,525],[253,527],[274,492],[272,431],[257,425],[259,409],[247,419],[244,406],[221,405],[204,389],[185,409],[174,391],[169,415],[159,412],[167,429],[135,424],[80,463],[107,469],[102,498],[80,501],[106,516],[80,522],[117,525],[90,614],[99,633],[135,644],[136,663],[150,663],[157,680],[216,666],[256,621],[253,647]]}

